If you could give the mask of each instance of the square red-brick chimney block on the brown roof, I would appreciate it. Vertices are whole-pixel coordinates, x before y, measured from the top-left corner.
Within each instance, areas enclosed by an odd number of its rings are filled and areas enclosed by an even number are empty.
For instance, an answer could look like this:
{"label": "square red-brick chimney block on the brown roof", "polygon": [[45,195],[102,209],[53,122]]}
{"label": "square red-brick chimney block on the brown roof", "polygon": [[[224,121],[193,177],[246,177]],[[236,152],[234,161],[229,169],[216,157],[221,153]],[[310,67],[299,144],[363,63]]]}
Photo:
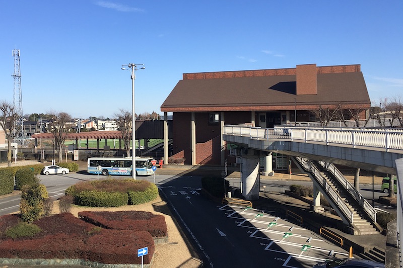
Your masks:
{"label": "square red-brick chimney block on the brown roof", "polygon": [[297,95],[317,94],[316,64],[297,65]]}

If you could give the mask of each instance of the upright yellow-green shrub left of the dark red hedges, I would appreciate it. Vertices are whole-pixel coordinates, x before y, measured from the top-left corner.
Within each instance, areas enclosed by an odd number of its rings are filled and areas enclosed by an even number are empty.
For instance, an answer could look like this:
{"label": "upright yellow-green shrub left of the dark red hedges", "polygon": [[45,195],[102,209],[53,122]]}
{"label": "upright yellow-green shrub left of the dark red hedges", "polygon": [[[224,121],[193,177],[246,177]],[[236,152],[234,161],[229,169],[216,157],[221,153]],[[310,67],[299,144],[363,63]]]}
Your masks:
{"label": "upright yellow-green shrub left of the dark red hedges", "polygon": [[31,223],[43,217],[44,201],[48,198],[43,184],[26,185],[21,192],[20,212],[24,222]]}

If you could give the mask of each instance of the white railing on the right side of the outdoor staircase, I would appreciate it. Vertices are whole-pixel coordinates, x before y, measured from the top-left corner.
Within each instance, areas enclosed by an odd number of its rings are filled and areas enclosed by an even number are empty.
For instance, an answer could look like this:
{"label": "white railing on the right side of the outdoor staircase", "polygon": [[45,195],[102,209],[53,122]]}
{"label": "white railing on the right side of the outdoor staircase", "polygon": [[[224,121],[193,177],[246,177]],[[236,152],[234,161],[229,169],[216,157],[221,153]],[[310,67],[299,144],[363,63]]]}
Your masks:
{"label": "white railing on the right side of the outdoor staircase", "polygon": [[360,204],[364,211],[371,217],[371,219],[376,222],[376,210],[369,204],[369,202],[357,191],[357,189],[347,181],[346,177],[340,172],[340,170],[335,167],[332,163],[326,163],[324,161],[318,161],[319,164],[327,169],[334,175],[334,177],[339,181],[339,183],[346,189],[350,195]]}

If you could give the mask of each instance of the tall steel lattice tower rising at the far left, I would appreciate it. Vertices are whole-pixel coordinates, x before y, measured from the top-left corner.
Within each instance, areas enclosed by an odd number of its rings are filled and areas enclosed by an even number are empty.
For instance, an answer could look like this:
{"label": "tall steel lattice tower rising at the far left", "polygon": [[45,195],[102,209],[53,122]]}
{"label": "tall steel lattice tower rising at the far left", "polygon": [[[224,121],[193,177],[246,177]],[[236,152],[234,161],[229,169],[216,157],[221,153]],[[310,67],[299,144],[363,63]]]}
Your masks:
{"label": "tall steel lattice tower rising at the far left", "polygon": [[[13,50],[14,57],[14,98],[13,106],[18,114],[15,129],[13,131],[14,142],[18,142],[24,145],[24,125],[23,125],[23,113],[22,113],[22,93],[21,93],[21,70],[20,70],[20,50]],[[17,100],[18,98],[18,100]]]}

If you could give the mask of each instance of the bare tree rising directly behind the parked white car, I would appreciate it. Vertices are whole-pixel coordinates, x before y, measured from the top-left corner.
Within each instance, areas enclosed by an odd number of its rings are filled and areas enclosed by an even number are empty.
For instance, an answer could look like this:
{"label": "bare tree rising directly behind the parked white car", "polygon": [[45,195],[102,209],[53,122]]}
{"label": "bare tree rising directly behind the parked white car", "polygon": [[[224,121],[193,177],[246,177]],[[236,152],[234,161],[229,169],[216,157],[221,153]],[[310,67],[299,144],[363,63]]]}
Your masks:
{"label": "bare tree rising directly behind the parked white car", "polygon": [[51,116],[49,131],[54,136],[55,145],[59,150],[59,162],[61,162],[63,160],[63,147],[66,134],[70,131],[67,124],[71,121],[71,115],[64,112],[49,112],[48,114]]}

